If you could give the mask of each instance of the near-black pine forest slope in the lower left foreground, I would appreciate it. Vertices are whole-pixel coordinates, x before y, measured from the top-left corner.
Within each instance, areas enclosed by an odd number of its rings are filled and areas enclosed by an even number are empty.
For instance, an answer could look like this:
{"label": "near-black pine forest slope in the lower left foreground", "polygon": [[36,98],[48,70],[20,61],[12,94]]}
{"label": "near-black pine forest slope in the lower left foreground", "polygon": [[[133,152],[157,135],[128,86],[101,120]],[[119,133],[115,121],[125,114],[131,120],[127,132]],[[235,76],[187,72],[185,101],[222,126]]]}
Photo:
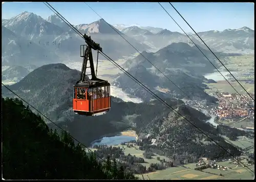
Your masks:
{"label": "near-black pine forest slope in the lower left foreground", "polygon": [[4,179],[137,179],[114,161],[100,161],[66,131],[49,129],[18,99],[2,98]]}

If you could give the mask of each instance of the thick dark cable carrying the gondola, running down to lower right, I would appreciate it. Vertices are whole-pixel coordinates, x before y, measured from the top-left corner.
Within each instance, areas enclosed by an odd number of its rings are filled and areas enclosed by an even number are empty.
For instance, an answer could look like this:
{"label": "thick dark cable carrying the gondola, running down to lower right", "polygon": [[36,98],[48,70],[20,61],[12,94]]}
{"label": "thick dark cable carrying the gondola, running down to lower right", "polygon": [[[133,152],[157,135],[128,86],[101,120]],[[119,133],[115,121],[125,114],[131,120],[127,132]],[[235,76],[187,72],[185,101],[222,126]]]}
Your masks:
{"label": "thick dark cable carrying the gondola, running down to lower right", "polygon": [[[55,10],[56,11],[56,10]],[[57,11],[56,11],[57,12]],[[55,13],[55,12],[54,12]],[[58,12],[57,12],[58,13]],[[59,13],[58,13],[59,14]],[[58,15],[57,14],[57,15]],[[60,18],[61,19],[61,18]],[[62,19],[63,20],[63,19]],[[63,20],[64,21],[64,20]],[[67,21],[67,20],[66,20]],[[66,22],[65,21],[65,23],[68,25],[68,26],[70,26],[71,24],[70,24],[70,22],[69,21],[67,21]],[[72,26],[73,27],[73,26]],[[76,28],[74,28],[74,29],[76,29]],[[77,30],[78,31],[78,30]],[[83,38],[83,37],[82,37]],[[241,164],[243,164],[241,161],[239,161],[235,156],[233,156],[230,152],[228,152],[225,148],[223,148],[221,145],[219,145],[217,142],[215,142],[213,139],[211,139],[206,133],[204,133],[200,128],[198,128],[196,125],[194,125],[193,123],[191,123],[190,121],[188,121],[185,117],[183,117],[178,111],[176,111],[172,106],[170,106],[170,105],[168,105],[164,100],[162,100],[160,97],[158,97],[155,93],[153,93],[150,89],[148,89],[143,83],[141,83],[140,81],[138,81],[134,76],[132,76],[130,73],[128,73],[128,72],[126,72],[119,64],[117,64],[113,59],[111,59],[108,55],[106,55],[106,54],[104,54],[103,52],[100,52],[100,54],[102,55],[102,56],[104,56],[106,59],[108,59],[109,61],[113,61],[115,64],[114,65],[116,65],[116,66],[118,66],[124,73],[126,73],[126,75],[128,74],[128,75],[130,75],[130,78],[133,78],[134,80],[136,80],[137,81],[137,83],[139,84],[139,85],[142,85],[143,86],[143,88],[147,91],[147,92],[150,92],[150,93],[152,93],[153,95],[154,95],[154,97],[158,100],[158,101],[162,101],[161,103],[163,103],[167,108],[169,108],[170,110],[173,110],[173,111],[175,111],[176,112],[176,114],[178,114],[178,115],[180,115],[182,118],[184,118],[187,122],[189,122],[190,124],[192,124],[194,127],[196,127],[199,131],[201,131],[204,135],[206,135],[206,137],[207,138],[209,138],[212,142],[214,142],[214,143],[216,143],[220,148],[222,148],[224,151],[226,151],[229,155],[231,155],[233,158],[234,158],[234,160],[236,160],[236,161],[238,161],[238,162],[240,162]],[[112,63],[113,63],[112,62]],[[159,100],[160,99],[160,100]],[[244,165],[244,164],[243,164]],[[245,166],[245,165],[244,165]],[[247,167],[247,166],[246,166]],[[248,167],[247,167],[248,168]],[[248,168],[250,171],[252,171],[250,168]],[[252,171],[253,172],[253,171]]]}

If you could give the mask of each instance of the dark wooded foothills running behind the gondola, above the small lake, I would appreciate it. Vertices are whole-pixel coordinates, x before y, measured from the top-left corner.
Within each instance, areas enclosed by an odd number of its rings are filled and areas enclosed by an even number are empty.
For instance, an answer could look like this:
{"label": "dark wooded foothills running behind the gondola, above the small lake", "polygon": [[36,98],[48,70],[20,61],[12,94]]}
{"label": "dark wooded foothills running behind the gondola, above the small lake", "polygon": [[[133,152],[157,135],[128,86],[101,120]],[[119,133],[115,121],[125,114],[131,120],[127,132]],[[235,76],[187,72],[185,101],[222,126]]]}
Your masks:
{"label": "dark wooded foothills running behind the gondola, above the small lake", "polygon": [[[219,154],[216,152],[216,150],[221,150],[218,146],[207,141],[201,132],[183,118],[176,116],[171,110],[166,109],[159,101],[136,104],[112,97],[111,111],[105,115],[98,117],[75,115],[72,110],[73,84],[79,76],[79,71],[71,70],[65,64],[47,64],[38,67],[25,78],[8,87],[85,145],[90,145],[102,135],[133,127],[141,138],[149,135],[150,138],[156,139],[157,146],[163,151],[170,151],[170,155],[188,151],[187,154],[198,157],[205,149],[207,150],[204,152],[209,157],[215,157],[216,153]],[[3,86],[2,95],[13,97],[13,94]],[[166,102],[208,133],[211,138],[221,141],[222,146],[228,147],[231,152],[239,153],[236,148],[227,144],[218,135],[217,129],[205,122],[208,117],[203,113],[185,106],[181,100],[166,99]],[[56,128],[52,123],[48,125],[52,129]],[[169,132],[170,130],[172,132]],[[167,139],[166,136],[168,136]],[[188,150],[189,147],[193,147],[193,150]],[[195,147],[200,149],[199,152],[194,150]]]}

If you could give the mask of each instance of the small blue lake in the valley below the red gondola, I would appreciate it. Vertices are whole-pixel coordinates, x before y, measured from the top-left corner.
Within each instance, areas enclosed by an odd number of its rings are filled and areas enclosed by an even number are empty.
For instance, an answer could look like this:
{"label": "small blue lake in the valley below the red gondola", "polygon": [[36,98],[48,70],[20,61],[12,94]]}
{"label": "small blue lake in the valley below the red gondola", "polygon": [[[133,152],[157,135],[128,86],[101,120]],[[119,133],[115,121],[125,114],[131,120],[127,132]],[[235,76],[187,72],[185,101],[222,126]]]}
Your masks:
{"label": "small blue lake in the valley below the red gondola", "polygon": [[93,142],[92,145],[119,145],[122,142],[130,142],[132,140],[136,140],[136,137],[117,135],[114,137],[103,137],[101,141],[97,140]]}

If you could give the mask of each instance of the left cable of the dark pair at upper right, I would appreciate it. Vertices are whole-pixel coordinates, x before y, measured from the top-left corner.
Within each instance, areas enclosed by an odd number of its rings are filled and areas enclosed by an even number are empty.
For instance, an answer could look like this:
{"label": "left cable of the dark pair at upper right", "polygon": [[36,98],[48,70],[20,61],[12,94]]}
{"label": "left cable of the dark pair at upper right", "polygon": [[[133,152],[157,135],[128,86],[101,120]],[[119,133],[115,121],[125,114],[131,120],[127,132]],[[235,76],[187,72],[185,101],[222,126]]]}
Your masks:
{"label": "left cable of the dark pair at upper right", "polygon": [[[187,33],[180,27],[180,25],[177,23],[177,21],[166,11],[166,9],[158,2],[158,4],[163,8],[163,10],[169,15],[170,18],[174,20],[176,25],[186,34],[186,36],[195,44],[195,46],[198,48],[198,50],[204,55],[204,57],[215,67],[215,69],[221,74],[221,76],[228,82],[228,84],[238,93],[238,95],[247,103],[247,105],[253,110],[251,105],[242,97],[242,95],[236,90],[236,88],[233,87],[233,85],[224,77],[224,75],[217,69],[217,67],[209,60],[209,58],[202,52],[202,50],[198,47],[198,45],[187,35]],[[254,100],[253,100],[254,101]]]}

